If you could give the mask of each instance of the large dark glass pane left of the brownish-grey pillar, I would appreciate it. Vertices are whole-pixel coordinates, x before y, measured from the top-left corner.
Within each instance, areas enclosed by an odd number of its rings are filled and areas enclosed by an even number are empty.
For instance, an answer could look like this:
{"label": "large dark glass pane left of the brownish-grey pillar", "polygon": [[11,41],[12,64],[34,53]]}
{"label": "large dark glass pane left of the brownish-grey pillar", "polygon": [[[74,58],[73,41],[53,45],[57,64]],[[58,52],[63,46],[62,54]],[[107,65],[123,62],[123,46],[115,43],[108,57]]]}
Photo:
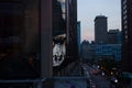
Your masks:
{"label": "large dark glass pane left of the brownish-grey pillar", "polygon": [[40,77],[38,0],[0,0],[0,79]]}

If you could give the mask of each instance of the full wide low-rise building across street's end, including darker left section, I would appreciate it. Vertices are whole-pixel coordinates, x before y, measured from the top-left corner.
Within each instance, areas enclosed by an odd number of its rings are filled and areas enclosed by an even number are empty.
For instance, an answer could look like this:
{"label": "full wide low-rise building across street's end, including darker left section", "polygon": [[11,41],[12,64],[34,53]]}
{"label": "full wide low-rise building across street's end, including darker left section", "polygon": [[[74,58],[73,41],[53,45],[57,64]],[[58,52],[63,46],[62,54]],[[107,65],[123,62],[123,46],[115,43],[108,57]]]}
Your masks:
{"label": "full wide low-rise building across street's end, including darker left section", "polygon": [[81,43],[81,58],[84,61],[99,61],[100,58],[121,61],[121,44]]}

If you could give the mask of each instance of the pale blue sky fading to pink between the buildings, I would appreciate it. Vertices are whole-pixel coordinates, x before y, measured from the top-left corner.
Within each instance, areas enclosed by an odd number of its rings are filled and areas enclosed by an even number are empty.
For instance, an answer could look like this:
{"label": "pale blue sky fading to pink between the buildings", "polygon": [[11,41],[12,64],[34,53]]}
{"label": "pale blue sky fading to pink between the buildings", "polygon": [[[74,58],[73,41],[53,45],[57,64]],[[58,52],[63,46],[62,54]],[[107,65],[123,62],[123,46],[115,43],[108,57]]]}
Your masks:
{"label": "pale blue sky fading to pink between the buildings", "polygon": [[95,18],[106,15],[108,30],[121,30],[121,0],[77,0],[77,16],[81,22],[81,42],[95,40]]}

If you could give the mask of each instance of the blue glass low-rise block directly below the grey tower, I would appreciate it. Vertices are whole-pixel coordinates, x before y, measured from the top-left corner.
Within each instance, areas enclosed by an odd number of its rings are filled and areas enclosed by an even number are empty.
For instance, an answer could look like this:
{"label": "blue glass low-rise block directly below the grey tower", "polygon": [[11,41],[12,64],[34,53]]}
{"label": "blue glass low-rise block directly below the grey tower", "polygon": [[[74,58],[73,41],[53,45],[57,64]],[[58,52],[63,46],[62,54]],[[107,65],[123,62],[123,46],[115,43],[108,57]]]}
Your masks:
{"label": "blue glass low-rise block directly below the grey tower", "polygon": [[95,48],[96,58],[121,61],[121,44],[98,44]]}

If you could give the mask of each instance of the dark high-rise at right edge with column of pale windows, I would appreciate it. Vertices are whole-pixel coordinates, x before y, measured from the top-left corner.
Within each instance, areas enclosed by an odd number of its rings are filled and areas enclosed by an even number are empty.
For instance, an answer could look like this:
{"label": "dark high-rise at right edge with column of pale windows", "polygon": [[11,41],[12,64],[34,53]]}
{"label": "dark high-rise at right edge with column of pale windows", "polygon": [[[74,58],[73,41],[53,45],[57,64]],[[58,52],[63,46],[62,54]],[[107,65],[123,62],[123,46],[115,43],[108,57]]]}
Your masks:
{"label": "dark high-rise at right edge with column of pale windows", "polygon": [[132,0],[121,0],[122,10],[122,67],[132,73]]}

